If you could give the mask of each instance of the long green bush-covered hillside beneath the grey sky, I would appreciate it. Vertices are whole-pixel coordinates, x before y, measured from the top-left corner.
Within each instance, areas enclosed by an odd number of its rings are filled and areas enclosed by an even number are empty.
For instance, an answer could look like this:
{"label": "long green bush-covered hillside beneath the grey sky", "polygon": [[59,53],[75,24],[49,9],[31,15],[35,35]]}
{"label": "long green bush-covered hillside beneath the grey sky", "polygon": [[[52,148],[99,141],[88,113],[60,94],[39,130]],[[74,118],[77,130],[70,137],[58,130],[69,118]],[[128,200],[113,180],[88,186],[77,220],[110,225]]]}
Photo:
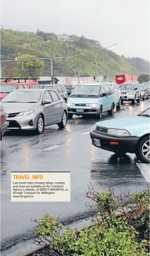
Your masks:
{"label": "long green bush-covered hillside beneath the grey sky", "polygon": [[[73,55],[74,58],[66,59],[66,68],[63,59],[54,61],[55,76],[77,77],[78,67],[80,68],[80,76],[94,76],[96,75],[96,63],[98,63],[98,75],[102,76],[104,48],[100,43],[84,38],[84,36],[72,35],[70,39],[72,41],[62,42],[57,39],[54,33],[44,33],[39,30],[32,33],[1,29],[1,59],[15,58],[19,51],[21,54],[28,53],[36,57]],[[6,70],[11,69],[10,67],[11,64],[3,64],[5,74]],[[106,76],[108,69],[109,78],[114,77],[115,73],[122,72],[138,74],[138,70],[132,67],[124,56],[120,57],[113,51],[106,50]],[[50,76],[50,74],[50,61],[44,61],[42,76]]]}

